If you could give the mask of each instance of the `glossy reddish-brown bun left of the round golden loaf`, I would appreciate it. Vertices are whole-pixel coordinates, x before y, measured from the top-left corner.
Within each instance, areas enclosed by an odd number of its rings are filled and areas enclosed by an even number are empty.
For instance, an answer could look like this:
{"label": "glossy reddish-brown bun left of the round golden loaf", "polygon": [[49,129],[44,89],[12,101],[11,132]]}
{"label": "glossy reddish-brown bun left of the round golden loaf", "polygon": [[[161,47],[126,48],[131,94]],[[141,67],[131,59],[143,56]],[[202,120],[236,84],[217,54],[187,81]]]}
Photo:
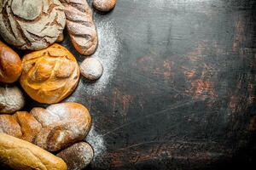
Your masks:
{"label": "glossy reddish-brown bun left of the round golden loaf", "polygon": [[0,82],[15,82],[21,74],[21,60],[14,50],[0,41]]}

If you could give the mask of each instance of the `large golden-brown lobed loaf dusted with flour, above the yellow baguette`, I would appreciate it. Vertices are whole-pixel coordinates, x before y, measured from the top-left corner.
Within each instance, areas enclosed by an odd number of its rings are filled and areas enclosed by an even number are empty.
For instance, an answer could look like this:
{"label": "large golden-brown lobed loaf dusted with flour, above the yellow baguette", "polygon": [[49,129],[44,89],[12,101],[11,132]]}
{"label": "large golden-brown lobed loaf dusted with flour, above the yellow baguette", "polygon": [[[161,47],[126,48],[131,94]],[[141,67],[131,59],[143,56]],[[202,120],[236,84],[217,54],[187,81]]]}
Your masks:
{"label": "large golden-brown lobed loaf dusted with flour, above the yellow baguette", "polygon": [[84,105],[61,103],[46,109],[35,107],[13,116],[0,115],[0,133],[7,133],[37,144],[44,150],[57,151],[84,139],[91,118]]}

